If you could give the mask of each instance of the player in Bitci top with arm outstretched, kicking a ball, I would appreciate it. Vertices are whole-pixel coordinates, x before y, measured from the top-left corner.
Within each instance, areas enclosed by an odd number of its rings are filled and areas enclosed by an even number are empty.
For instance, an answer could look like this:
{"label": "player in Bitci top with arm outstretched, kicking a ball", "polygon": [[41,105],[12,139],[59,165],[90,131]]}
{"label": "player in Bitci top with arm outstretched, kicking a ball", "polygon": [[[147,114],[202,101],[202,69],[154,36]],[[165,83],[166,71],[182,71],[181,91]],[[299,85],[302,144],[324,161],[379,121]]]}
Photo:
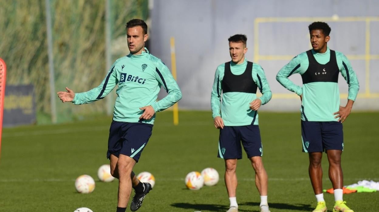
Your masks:
{"label": "player in Bitci top with arm outstretched, kicking a ball", "polygon": [[[155,113],[182,98],[167,66],[144,47],[148,38],[146,23],[132,19],[126,30],[130,54],[114,62],[99,86],[84,93],[74,93],[69,88],[58,92],[61,101],[78,105],[103,99],[118,86],[107,152],[111,174],[119,179],[117,212],[126,210],[132,187],[136,193],[130,204],[132,211],[141,207],[152,189],[149,183],[141,183],[132,169],[151,136]],[[161,86],[168,95],[156,101]]]}

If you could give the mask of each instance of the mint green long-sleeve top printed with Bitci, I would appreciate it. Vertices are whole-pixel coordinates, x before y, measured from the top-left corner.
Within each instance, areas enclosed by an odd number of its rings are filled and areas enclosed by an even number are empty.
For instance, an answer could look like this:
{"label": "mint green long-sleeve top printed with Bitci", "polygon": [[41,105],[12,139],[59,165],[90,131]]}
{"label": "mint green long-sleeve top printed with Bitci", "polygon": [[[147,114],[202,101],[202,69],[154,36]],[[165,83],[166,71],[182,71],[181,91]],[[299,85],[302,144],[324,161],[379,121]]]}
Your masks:
{"label": "mint green long-sleeve top printed with Bitci", "polygon": [[[76,93],[72,102],[79,105],[103,99],[116,85],[114,121],[139,122],[143,113],[140,107],[151,105],[158,112],[182,98],[182,92],[167,66],[145,48],[140,55],[129,54],[117,59],[99,86],[84,93]],[[156,101],[161,86],[168,95]],[[142,122],[153,124],[154,119],[155,115]]]}

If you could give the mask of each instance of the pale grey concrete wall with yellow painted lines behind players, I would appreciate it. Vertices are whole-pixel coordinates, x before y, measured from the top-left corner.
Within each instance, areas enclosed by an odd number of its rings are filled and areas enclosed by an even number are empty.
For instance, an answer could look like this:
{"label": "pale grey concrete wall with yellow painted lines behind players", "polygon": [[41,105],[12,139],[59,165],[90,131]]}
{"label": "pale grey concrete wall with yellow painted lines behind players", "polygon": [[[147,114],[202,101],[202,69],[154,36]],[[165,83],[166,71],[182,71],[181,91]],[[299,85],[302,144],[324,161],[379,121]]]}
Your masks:
{"label": "pale grey concrete wall with yellow painted lines behind players", "polygon": [[[359,78],[354,109],[379,110],[379,1],[154,0],[152,6],[150,52],[171,68],[169,40],[175,37],[180,108],[210,109],[216,67],[230,61],[227,39],[242,33],[247,35],[246,58],[265,69],[273,91],[262,110],[299,110],[299,98],[275,76],[292,57],[311,48],[308,25],[321,20],[332,28],[330,49],[347,55]],[[301,85],[300,75],[290,79]],[[348,86],[341,76],[339,82],[345,104]]]}

